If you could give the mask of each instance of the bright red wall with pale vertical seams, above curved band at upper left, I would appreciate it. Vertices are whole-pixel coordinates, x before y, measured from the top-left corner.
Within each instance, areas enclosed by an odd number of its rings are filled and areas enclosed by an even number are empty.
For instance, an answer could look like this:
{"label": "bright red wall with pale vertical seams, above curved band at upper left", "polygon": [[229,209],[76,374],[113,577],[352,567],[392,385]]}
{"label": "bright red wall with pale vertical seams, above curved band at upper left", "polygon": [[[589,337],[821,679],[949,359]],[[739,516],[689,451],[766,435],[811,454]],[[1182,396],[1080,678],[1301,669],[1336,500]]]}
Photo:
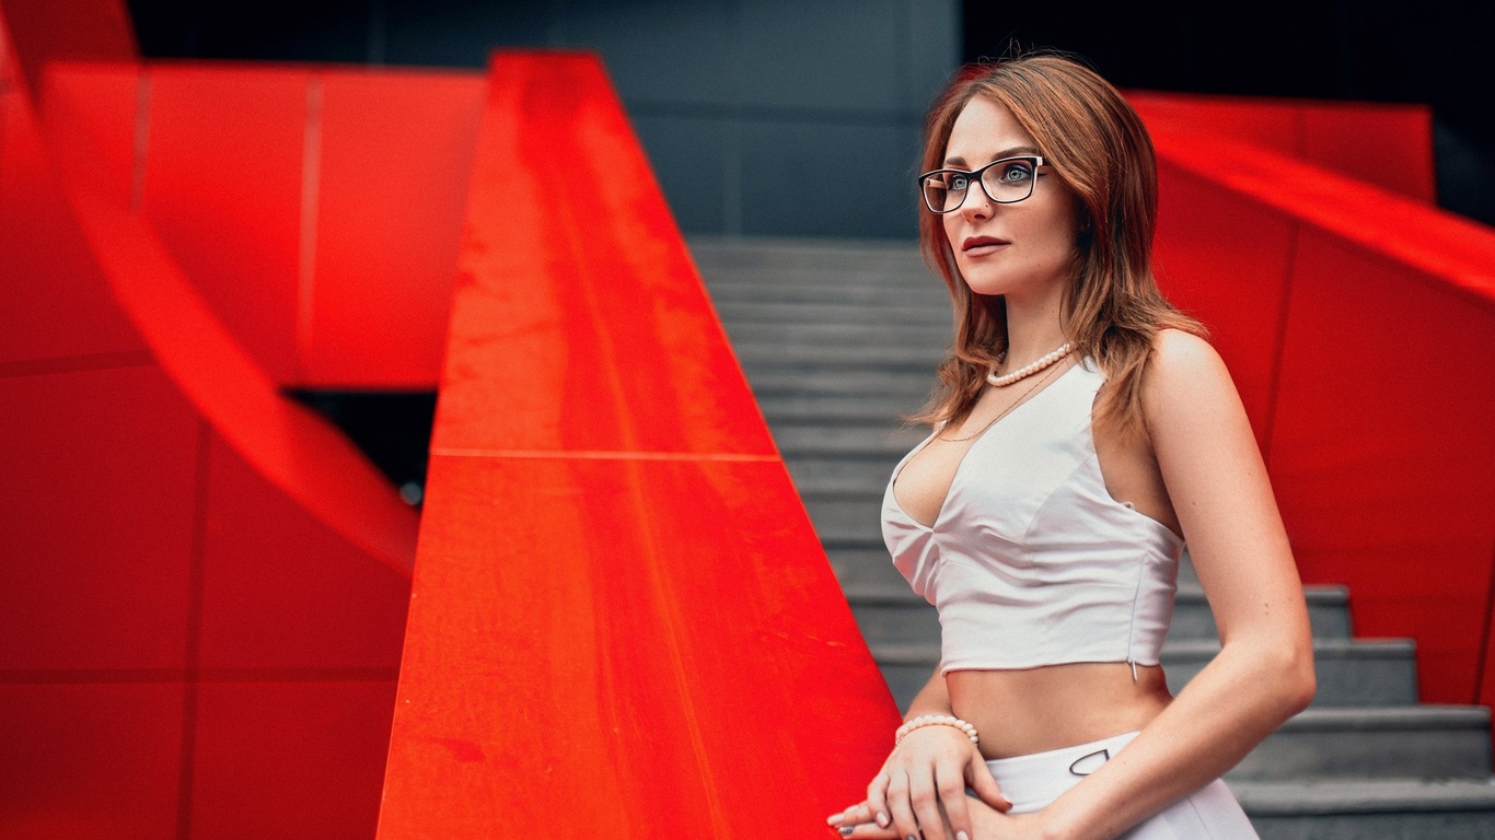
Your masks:
{"label": "bright red wall with pale vertical seams, above curved band at upper left", "polygon": [[78,132],[58,154],[141,206],[277,384],[435,389],[481,76],[69,63],[43,84]]}

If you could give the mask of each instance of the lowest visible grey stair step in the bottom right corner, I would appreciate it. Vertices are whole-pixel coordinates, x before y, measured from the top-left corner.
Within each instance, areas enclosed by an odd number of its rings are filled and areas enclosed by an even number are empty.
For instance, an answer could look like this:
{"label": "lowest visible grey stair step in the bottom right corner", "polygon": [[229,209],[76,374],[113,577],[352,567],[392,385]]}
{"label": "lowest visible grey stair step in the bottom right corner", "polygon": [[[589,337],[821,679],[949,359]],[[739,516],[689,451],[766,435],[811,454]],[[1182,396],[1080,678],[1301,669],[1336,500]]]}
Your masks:
{"label": "lowest visible grey stair step in the bottom right corner", "polygon": [[1495,837],[1491,779],[1295,779],[1227,785],[1262,840]]}

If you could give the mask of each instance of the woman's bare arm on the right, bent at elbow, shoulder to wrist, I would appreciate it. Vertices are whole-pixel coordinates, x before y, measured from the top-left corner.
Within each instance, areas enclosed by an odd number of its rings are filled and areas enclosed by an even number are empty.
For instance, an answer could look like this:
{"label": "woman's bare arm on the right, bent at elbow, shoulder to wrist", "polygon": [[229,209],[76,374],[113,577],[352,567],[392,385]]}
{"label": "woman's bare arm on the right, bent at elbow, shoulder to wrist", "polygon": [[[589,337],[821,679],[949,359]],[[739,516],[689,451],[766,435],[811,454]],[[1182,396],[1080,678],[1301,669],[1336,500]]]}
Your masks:
{"label": "woman's bare arm on the right, bent at elbow, shoulder to wrist", "polygon": [[1302,583],[1224,363],[1203,339],[1166,330],[1142,395],[1220,653],[1135,741],[1039,813],[1042,837],[1121,834],[1221,776],[1314,694]]}

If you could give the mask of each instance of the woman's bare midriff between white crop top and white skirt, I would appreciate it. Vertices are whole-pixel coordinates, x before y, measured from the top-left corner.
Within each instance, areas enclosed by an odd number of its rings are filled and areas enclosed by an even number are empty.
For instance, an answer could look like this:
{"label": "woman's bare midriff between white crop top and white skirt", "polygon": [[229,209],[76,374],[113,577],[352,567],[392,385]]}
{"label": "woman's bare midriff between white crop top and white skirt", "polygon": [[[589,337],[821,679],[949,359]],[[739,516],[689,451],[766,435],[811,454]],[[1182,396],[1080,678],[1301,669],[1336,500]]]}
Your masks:
{"label": "woman's bare midriff between white crop top and white skirt", "polygon": [[1168,707],[1163,670],[1073,662],[945,674],[951,710],[981,732],[981,755],[1011,758],[1133,732]]}

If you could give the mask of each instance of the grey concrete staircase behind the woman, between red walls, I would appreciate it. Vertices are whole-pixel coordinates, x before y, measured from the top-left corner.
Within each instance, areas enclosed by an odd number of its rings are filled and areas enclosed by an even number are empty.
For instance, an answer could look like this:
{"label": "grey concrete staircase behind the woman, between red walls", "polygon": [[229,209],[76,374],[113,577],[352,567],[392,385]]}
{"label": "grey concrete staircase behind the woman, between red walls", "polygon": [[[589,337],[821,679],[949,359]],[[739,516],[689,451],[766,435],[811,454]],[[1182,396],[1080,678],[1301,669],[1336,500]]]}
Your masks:
{"label": "grey concrete staircase behind the woman, between red walls", "polygon": [[[878,526],[903,427],[949,341],[949,303],[916,248],[691,241],[718,312],[900,705],[939,659],[939,622],[893,568]],[[1227,776],[1274,839],[1495,839],[1489,710],[1417,702],[1408,640],[1350,635],[1348,592],[1307,590],[1319,695]],[[1218,650],[1184,566],[1163,650],[1178,691]]]}

